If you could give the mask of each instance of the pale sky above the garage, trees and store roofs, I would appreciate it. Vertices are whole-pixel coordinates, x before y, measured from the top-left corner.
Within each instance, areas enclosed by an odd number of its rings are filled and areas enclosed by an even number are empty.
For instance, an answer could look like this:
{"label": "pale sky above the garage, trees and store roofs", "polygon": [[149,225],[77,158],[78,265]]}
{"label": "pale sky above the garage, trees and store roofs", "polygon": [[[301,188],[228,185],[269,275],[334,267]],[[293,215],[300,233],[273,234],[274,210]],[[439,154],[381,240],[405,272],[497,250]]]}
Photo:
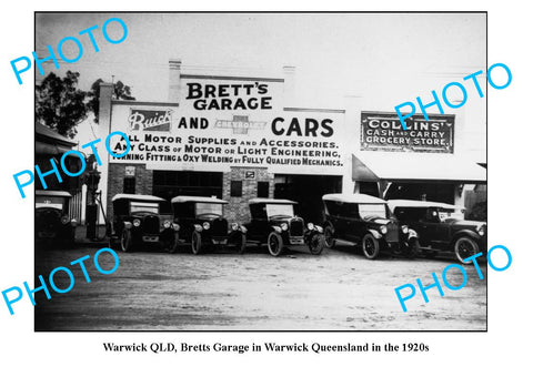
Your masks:
{"label": "pale sky above the garage, trees and store roofs", "polygon": [[[111,17],[128,27],[122,43],[102,35]],[[295,105],[344,109],[345,96],[355,95],[374,111],[394,111],[418,95],[430,102],[431,90],[486,68],[484,13],[41,13],[36,52],[48,54],[47,44],[57,51],[62,38],[94,24],[100,51],[79,37],[81,59],[59,70],[46,63],[46,73],[80,72],[83,90],[99,78],[121,80],[142,101],[168,100],[171,58],[182,60],[185,73],[282,78],[282,67],[293,65]],[[118,23],[109,33],[121,35]],[[64,44],[67,55],[76,55],[72,45]],[[36,71],[37,82],[42,78]],[[473,86],[469,94],[467,132],[483,139],[485,99]]]}

